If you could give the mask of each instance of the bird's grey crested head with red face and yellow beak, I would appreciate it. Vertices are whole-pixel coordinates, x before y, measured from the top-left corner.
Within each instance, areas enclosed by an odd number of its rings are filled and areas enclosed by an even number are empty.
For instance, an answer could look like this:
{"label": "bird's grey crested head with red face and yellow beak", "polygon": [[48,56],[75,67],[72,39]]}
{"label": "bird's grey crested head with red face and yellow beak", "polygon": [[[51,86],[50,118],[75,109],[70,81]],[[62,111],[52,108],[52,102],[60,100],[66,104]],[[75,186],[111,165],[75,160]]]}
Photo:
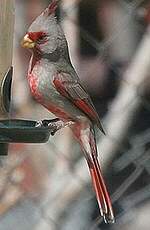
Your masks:
{"label": "bird's grey crested head with red face and yellow beak", "polygon": [[41,54],[53,53],[64,43],[64,33],[55,17],[58,0],[52,0],[49,6],[29,27],[21,45]]}

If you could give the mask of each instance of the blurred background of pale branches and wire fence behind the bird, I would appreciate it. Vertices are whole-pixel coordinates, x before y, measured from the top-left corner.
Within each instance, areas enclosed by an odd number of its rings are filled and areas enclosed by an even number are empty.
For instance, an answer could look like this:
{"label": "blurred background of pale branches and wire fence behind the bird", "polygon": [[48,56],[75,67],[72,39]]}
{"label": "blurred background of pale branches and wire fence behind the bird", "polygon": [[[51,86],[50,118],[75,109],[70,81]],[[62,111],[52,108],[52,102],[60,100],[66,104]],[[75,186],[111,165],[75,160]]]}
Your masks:
{"label": "blurred background of pale branches and wire fence behind the bird", "polygon": [[[13,118],[53,118],[30,95],[30,53],[20,46],[48,4],[15,1]],[[98,132],[97,143],[116,223],[100,218],[80,146],[66,128],[46,144],[10,145],[0,168],[0,230],[149,230],[150,1],[62,0],[57,15],[107,133]]]}

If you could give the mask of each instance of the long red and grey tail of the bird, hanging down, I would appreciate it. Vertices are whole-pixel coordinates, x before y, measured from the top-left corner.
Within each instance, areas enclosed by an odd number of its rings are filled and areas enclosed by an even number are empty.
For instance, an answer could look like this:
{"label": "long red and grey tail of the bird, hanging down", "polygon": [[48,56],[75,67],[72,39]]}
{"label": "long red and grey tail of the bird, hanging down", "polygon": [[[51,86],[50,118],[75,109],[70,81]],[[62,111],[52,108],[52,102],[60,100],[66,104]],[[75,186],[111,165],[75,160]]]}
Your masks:
{"label": "long red and grey tail of the bird, hanging down", "polygon": [[86,130],[80,130],[80,144],[82,145],[89,166],[100,214],[104,218],[105,223],[114,223],[115,219],[111,200],[107,192],[97,158],[97,147],[93,128],[88,127]]}

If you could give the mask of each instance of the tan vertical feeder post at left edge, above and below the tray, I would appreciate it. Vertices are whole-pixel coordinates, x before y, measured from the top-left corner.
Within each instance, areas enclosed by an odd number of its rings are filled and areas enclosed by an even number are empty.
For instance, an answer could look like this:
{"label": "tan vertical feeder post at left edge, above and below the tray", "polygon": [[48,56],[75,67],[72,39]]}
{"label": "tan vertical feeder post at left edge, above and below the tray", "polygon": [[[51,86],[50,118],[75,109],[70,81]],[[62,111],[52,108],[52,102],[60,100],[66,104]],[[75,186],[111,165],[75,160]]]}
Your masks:
{"label": "tan vertical feeder post at left edge, above and below the tray", "polygon": [[[12,66],[13,34],[14,0],[0,0],[0,119],[9,118],[9,106],[4,101],[3,86]],[[7,149],[8,144],[0,143],[0,156],[6,155]]]}

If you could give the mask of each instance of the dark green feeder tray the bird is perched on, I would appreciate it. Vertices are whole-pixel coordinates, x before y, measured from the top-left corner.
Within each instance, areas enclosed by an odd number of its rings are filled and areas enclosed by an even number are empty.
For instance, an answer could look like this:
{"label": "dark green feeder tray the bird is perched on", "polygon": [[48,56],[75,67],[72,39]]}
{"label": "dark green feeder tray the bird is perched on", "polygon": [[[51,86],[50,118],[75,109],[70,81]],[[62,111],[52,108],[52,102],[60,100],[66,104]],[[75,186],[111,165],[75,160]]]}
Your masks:
{"label": "dark green feeder tray the bird is perched on", "polygon": [[0,143],[45,143],[51,133],[48,123],[39,125],[38,121],[31,120],[0,120]]}

